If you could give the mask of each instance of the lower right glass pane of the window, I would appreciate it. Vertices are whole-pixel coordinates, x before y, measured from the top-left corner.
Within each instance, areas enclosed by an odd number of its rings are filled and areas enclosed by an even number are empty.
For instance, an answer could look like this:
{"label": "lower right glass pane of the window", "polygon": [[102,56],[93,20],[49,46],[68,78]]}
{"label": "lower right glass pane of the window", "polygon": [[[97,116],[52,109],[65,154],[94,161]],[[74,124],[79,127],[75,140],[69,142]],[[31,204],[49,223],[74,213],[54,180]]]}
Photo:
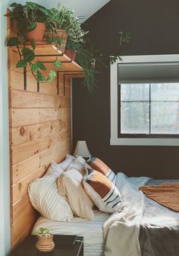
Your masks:
{"label": "lower right glass pane of the window", "polygon": [[151,133],[179,133],[179,103],[151,104]]}

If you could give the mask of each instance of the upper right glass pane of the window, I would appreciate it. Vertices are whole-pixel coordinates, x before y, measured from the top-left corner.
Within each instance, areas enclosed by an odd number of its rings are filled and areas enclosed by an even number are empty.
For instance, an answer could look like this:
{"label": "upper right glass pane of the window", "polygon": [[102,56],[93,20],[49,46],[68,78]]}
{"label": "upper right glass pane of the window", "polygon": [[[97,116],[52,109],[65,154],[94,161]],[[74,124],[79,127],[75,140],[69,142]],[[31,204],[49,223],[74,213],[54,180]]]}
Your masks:
{"label": "upper right glass pane of the window", "polygon": [[152,101],[179,101],[179,83],[152,84]]}

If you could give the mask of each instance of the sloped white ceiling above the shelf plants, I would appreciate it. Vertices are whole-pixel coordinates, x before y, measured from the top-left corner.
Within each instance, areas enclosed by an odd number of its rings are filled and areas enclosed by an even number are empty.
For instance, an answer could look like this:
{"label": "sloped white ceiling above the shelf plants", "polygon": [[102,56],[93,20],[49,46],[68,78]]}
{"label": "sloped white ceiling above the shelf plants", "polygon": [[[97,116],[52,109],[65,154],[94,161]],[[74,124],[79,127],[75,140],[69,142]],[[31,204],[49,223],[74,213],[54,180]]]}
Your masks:
{"label": "sloped white ceiling above the shelf plants", "polygon": [[[27,0],[31,2],[38,2],[41,5],[45,5],[47,8],[56,8],[58,2],[61,6],[66,8],[71,8],[74,10],[74,14],[77,16],[83,16],[82,21],[86,21],[90,16],[92,16],[96,11],[98,11],[102,6],[107,4],[110,0]],[[20,4],[27,2],[25,0],[17,0]],[[11,2],[14,2],[13,0]]]}

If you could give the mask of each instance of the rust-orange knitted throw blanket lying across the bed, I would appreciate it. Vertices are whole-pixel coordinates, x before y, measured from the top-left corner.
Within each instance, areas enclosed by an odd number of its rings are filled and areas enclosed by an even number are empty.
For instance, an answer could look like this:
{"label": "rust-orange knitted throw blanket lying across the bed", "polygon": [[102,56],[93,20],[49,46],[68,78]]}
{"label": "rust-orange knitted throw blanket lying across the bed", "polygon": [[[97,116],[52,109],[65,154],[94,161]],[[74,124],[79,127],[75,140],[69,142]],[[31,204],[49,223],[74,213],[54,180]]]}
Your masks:
{"label": "rust-orange knitted throw blanket lying across the bed", "polygon": [[179,183],[164,183],[157,186],[140,187],[140,190],[152,200],[179,212]]}

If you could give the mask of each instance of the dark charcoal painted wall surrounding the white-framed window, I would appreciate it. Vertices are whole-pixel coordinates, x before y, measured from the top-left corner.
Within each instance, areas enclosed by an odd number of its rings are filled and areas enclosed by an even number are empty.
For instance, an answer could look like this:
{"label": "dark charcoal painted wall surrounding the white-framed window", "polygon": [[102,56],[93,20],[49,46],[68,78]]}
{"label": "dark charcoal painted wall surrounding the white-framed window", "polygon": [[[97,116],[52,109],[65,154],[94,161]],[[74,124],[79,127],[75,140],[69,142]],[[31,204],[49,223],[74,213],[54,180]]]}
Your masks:
{"label": "dark charcoal painted wall surrounding the white-framed window", "polygon": [[[179,2],[176,0],[115,0],[87,21],[91,40],[105,53],[116,47],[118,31],[130,31],[126,55],[179,53]],[[179,147],[110,146],[110,72],[97,77],[89,94],[73,85],[73,136],[86,140],[92,155],[114,171],[153,178],[179,178]]]}

